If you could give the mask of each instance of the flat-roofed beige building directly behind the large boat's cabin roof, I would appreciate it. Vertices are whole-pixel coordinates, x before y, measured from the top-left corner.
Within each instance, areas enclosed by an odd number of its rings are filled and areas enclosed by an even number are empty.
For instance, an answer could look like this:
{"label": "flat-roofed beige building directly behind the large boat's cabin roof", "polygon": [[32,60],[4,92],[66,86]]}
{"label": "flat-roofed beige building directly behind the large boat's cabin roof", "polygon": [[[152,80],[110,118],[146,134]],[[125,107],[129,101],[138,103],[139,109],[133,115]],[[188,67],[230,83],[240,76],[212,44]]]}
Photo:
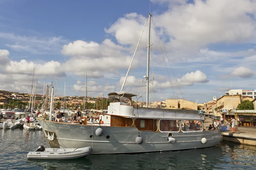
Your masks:
{"label": "flat-roofed beige building directly behind the large boat's cabin roof", "polygon": [[197,103],[183,99],[166,99],[166,108],[197,110]]}

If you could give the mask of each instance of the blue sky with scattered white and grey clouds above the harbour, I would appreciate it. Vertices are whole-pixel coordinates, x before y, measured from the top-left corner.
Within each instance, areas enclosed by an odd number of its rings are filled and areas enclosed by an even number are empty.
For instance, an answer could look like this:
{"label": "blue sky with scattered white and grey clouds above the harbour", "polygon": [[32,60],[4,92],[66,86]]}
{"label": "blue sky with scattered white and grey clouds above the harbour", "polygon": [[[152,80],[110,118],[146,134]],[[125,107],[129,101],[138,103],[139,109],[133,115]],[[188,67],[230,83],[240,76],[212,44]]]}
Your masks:
{"label": "blue sky with scattered white and grey clouds above the harbour", "polygon": [[[256,0],[0,0],[0,89],[120,91],[151,20],[149,102],[256,89]],[[146,100],[148,23],[123,91]],[[168,95],[166,95],[168,94]]]}

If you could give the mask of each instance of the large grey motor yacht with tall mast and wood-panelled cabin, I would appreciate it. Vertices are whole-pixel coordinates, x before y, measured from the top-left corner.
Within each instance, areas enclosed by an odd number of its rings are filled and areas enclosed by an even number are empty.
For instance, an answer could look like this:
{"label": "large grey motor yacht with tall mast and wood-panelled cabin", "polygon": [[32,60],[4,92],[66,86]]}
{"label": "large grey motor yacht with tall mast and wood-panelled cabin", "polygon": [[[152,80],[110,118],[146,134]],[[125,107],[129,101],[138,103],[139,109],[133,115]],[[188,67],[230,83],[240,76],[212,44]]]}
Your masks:
{"label": "large grey motor yacht with tall mast and wood-panelled cabin", "polygon": [[[124,81],[121,91],[108,94],[108,113],[99,113],[99,124],[42,123],[50,147],[90,146],[93,148],[91,154],[145,153],[212,147],[222,140],[219,130],[205,130],[204,116],[197,110],[148,107],[151,14],[148,14],[147,20],[148,67],[147,76],[144,76],[147,80],[147,107],[133,107],[132,98],[140,98],[141,95],[122,91]],[[42,120],[38,118],[39,122]]]}

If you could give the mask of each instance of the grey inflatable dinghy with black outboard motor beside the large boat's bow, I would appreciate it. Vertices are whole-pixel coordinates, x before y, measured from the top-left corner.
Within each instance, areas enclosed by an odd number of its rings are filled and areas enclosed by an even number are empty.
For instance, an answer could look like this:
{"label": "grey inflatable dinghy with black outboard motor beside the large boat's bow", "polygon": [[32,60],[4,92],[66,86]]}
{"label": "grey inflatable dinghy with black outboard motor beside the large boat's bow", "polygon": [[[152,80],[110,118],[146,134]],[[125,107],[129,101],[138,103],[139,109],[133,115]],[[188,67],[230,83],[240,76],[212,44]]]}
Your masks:
{"label": "grey inflatable dinghy with black outboard motor beside the large boat's bow", "polygon": [[35,152],[29,152],[29,159],[74,159],[89,155],[93,149],[91,147],[81,148],[44,148],[38,147]]}

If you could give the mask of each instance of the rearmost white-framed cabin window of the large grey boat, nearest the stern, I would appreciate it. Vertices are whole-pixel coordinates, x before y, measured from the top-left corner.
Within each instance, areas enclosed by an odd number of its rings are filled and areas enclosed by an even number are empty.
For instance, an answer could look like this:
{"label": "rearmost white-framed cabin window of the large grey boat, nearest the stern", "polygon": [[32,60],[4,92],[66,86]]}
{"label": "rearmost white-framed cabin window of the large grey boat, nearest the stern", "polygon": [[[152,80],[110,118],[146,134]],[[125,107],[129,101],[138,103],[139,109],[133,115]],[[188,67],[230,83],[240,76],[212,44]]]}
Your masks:
{"label": "rearmost white-framed cabin window of the large grey boat, nearest the stern", "polygon": [[181,121],[181,130],[186,131],[200,131],[203,130],[203,123],[202,121]]}

